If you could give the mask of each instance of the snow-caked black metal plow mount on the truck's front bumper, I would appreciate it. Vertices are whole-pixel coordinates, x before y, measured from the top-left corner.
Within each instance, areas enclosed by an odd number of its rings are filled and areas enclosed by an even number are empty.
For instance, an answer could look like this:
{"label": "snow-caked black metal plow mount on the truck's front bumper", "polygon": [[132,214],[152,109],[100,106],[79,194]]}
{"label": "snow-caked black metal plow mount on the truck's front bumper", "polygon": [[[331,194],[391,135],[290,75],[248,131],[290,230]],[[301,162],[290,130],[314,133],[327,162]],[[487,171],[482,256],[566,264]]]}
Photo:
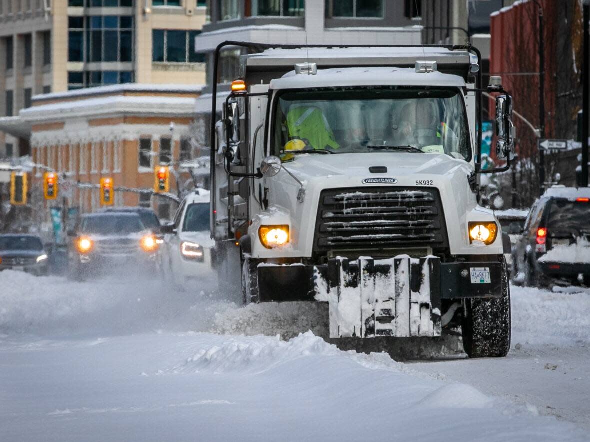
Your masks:
{"label": "snow-caked black metal plow mount on the truck's front bumper", "polygon": [[316,267],[330,338],[441,335],[440,258],[330,259]]}

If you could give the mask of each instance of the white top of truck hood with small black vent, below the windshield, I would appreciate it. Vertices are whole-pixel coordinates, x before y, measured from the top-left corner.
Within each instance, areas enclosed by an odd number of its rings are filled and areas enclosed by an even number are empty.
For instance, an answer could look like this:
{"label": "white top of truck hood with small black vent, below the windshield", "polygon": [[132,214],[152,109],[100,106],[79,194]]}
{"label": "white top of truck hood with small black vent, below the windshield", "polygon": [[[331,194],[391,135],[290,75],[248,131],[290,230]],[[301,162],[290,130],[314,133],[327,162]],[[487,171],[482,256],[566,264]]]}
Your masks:
{"label": "white top of truck hood with small black vent, below the windshield", "polygon": [[[371,166],[386,166],[387,173],[371,173]],[[364,178],[396,178],[414,174],[446,175],[461,168],[469,173],[473,167],[466,161],[444,154],[405,152],[342,153],[332,155],[298,155],[284,167],[301,180],[325,176],[362,176]]]}

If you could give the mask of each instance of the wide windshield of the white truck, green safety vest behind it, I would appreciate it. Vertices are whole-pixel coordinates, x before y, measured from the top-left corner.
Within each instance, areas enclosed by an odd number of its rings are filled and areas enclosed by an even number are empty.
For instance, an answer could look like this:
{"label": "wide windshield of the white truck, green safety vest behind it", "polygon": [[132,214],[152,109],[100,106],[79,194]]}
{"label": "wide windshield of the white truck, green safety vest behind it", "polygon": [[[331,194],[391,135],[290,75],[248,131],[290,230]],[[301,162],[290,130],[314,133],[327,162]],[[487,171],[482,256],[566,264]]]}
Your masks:
{"label": "wide windshield of the white truck, green safety vest behind it", "polygon": [[444,153],[471,159],[457,88],[340,88],[288,91],[278,98],[274,153],[296,151]]}

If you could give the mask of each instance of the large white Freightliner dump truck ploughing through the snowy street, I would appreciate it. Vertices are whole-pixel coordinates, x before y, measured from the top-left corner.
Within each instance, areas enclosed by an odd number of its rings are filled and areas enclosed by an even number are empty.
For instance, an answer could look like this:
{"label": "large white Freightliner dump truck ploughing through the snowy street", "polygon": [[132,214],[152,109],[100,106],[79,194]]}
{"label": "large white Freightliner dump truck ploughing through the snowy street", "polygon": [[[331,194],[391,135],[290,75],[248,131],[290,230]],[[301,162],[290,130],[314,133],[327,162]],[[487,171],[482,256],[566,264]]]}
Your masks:
{"label": "large white Freightliner dump truck ploughing through the snowy street", "polygon": [[[510,348],[510,239],[478,204],[507,170],[512,98],[471,46],[247,48],[212,91],[211,235],[244,302],[329,303],[330,337],[437,337],[471,357]],[[496,154],[481,170],[483,92]],[[218,98],[222,97],[222,98]],[[487,98],[486,98],[487,99]]]}

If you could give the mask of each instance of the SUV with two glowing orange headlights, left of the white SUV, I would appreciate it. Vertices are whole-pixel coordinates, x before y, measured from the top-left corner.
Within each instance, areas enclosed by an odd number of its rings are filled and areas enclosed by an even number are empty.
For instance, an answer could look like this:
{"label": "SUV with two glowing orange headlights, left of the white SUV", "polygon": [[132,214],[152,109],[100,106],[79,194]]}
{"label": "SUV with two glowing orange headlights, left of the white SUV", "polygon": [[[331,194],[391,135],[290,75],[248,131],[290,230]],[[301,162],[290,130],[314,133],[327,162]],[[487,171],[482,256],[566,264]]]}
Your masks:
{"label": "SUV with two glowing orange headlights, left of the white SUV", "polygon": [[137,213],[98,212],[80,217],[68,247],[68,276],[87,276],[120,269],[159,269],[159,245]]}

